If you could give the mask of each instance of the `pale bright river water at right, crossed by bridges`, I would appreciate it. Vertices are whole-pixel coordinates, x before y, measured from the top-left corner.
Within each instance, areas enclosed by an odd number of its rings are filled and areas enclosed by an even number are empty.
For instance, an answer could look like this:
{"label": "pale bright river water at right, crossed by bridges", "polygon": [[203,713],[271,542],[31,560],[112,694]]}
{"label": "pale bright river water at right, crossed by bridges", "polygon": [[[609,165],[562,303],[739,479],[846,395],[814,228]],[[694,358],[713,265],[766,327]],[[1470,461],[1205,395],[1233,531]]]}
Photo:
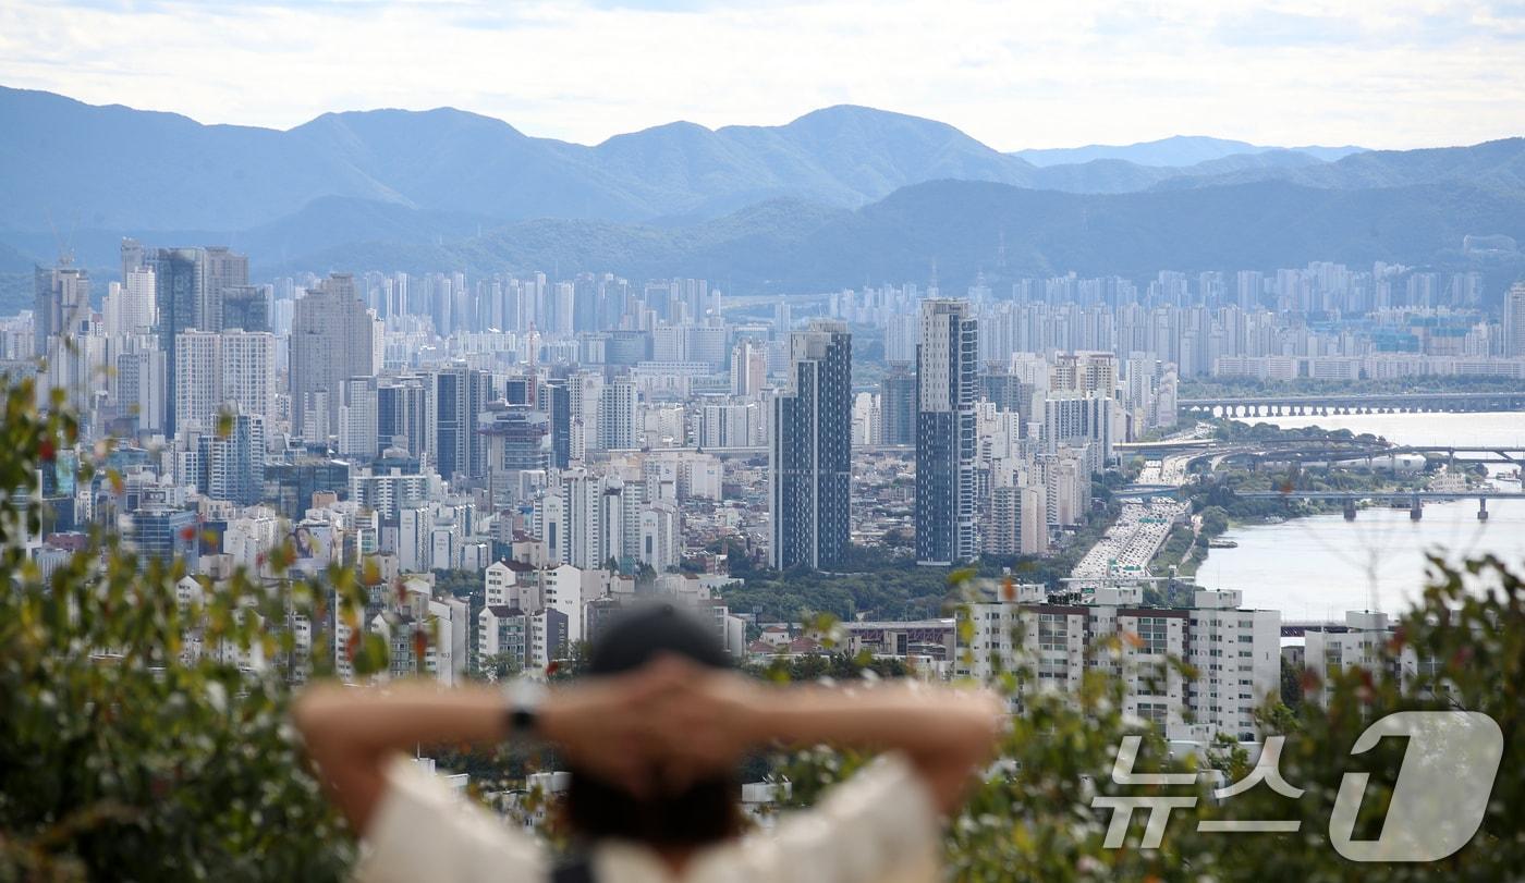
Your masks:
{"label": "pale bright river water at right, crossed by bridges", "polygon": [[[1520,445],[1525,412],[1374,413],[1344,416],[1260,418],[1279,427],[1319,425],[1376,433],[1395,444]],[[1494,470],[1501,471],[1501,470]],[[1499,483],[1519,491],[1519,483]],[[1197,573],[1212,589],[1238,589],[1244,605],[1281,610],[1284,621],[1344,619],[1347,610],[1400,613],[1424,586],[1424,554],[1455,560],[1491,552],[1525,566],[1525,500],[1488,500],[1488,520],[1478,502],[1426,503],[1424,517],[1408,509],[1372,506],[1354,522],[1340,512],[1292,519],[1279,525],[1246,525],[1223,537],[1237,549],[1212,549]]]}

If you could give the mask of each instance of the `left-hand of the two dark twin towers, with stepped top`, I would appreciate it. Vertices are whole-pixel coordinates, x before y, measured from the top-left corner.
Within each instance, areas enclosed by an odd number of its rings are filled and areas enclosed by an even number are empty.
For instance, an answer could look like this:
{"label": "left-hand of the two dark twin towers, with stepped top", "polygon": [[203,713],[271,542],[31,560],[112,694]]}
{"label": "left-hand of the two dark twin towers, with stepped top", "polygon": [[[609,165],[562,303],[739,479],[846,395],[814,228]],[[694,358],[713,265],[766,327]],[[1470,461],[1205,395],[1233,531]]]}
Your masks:
{"label": "left-hand of the two dark twin towers, with stepped top", "polygon": [[772,557],[779,570],[831,569],[848,551],[852,483],[852,336],[814,320],[790,336],[788,389],[769,444]]}

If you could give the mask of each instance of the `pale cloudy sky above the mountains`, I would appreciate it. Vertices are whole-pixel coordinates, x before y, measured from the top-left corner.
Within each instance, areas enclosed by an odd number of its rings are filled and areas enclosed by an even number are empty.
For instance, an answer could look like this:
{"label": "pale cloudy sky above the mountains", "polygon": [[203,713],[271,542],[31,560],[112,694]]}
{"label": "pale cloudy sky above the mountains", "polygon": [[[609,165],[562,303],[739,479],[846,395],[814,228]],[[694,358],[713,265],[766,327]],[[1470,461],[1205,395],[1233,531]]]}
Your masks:
{"label": "pale cloudy sky above the mountains", "polygon": [[0,84],[201,122],[451,105],[595,143],[831,104],[1000,149],[1525,134],[1525,2],[0,0]]}

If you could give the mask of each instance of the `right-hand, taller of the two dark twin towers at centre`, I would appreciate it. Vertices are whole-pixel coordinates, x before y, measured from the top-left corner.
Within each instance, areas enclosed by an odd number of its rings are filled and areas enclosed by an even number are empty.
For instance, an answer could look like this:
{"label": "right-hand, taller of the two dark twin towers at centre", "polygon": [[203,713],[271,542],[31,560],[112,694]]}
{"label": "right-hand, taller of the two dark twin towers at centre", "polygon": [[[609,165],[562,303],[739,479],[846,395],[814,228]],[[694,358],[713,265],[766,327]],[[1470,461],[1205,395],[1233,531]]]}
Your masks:
{"label": "right-hand, taller of the two dark twin towers at centre", "polygon": [[979,334],[968,302],[921,302],[917,345],[917,563],[974,557]]}

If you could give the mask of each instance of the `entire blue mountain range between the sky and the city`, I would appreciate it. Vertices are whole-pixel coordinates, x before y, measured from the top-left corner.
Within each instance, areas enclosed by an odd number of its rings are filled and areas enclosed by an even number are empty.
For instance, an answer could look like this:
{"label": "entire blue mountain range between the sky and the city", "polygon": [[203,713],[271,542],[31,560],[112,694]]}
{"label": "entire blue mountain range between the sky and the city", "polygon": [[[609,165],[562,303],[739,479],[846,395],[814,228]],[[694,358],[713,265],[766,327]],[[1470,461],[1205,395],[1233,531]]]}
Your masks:
{"label": "entire blue mountain range between the sky and the city", "polygon": [[108,270],[134,235],[230,244],[256,273],[612,270],[798,291],[926,279],[932,259],[953,285],[1464,262],[1467,233],[1525,238],[1525,140],[1337,156],[1351,149],[1180,137],[1014,156],[863,107],[583,146],[450,108],[274,131],[0,88],[0,273],[59,239]]}

